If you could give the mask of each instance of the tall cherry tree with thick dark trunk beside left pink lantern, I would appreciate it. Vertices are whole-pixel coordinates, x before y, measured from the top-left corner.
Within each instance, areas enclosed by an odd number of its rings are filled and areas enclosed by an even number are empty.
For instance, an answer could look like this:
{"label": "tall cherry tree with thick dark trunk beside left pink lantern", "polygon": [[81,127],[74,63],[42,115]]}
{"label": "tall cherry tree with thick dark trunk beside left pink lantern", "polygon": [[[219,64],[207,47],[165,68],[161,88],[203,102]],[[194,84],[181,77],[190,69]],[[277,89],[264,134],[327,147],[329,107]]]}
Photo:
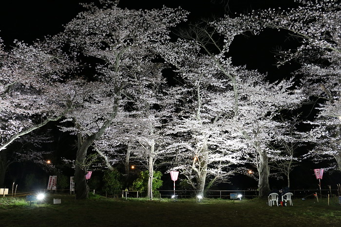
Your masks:
{"label": "tall cherry tree with thick dark trunk beside left pink lantern", "polygon": [[[114,121],[123,106],[122,99],[135,92],[132,85],[137,82],[136,73],[141,71],[139,63],[145,58],[150,61],[157,45],[169,39],[170,27],[186,16],[180,9],[137,11],[120,9],[116,2],[101,3],[101,8],[85,5],[87,10],[66,25],[63,36],[84,56],[103,63],[97,67],[98,76],[94,76],[103,88],[95,99],[87,101],[90,116],[80,114],[82,111],[73,116],[79,136],[75,171],[78,199],[88,195],[86,169],[82,167],[88,148]],[[100,112],[96,110],[99,106]]]}

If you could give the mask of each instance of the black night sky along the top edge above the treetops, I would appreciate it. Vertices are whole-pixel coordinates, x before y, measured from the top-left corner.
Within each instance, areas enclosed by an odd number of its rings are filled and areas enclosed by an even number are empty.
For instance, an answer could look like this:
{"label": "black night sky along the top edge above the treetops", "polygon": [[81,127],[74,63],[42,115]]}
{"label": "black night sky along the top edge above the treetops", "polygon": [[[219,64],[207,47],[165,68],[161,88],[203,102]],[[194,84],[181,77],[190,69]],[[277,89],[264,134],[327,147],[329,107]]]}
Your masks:
{"label": "black night sky along the top edge above the treetops", "polygon": [[[83,8],[79,2],[93,0],[29,0],[0,1],[0,37],[10,44],[13,39],[32,40],[62,31],[67,23]],[[94,0],[96,2],[96,0]],[[278,3],[280,2],[280,3]],[[284,3],[283,3],[284,2]],[[228,6],[224,6],[228,3]],[[151,9],[181,6],[190,13],[189,19],[221,16],[225,12],[243,13],[251,9],[293,6],[294,0],[120,0],[122,8]]]}

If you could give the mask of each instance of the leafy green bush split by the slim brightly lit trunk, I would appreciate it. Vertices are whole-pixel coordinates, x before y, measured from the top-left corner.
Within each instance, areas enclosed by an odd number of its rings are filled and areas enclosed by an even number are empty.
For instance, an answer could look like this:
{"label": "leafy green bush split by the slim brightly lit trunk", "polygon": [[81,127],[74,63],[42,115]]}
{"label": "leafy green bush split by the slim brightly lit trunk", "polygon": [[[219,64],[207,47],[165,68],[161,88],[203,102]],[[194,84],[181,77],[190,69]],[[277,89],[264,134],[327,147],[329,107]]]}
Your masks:
{"label": "leafy green bush split by the slim brightly lit trunk", "polygon": [[[162,173],[160,171],[154,171],[152,181],[152,192],[154,195],[159,193],[157,190],[162,186],[163,181],[161,180],[161,176]],[[149,171],[142,171],[139,177],[133,182],[133,190],[146,192],[148,190],[148,178]]]}

